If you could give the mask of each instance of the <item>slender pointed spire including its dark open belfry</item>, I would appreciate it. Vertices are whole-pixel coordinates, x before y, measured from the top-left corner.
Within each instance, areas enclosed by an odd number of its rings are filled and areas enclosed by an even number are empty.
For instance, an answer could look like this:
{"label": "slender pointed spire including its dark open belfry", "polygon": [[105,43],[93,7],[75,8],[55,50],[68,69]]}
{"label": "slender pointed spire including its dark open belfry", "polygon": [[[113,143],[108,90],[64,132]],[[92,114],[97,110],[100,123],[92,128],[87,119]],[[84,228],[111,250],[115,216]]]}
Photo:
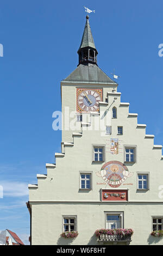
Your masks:
{"label": "slender pointed spire including its dark open belfry", "polygon": [[96,56],[98,52],[96,50],[95,42],[93,40],[88,15],[86,15],[84,33],[82,37],[82,42],[78,50],[78,54],[79,54],[79,65],[80,64],[87,65],[88,63],[97,65]]}

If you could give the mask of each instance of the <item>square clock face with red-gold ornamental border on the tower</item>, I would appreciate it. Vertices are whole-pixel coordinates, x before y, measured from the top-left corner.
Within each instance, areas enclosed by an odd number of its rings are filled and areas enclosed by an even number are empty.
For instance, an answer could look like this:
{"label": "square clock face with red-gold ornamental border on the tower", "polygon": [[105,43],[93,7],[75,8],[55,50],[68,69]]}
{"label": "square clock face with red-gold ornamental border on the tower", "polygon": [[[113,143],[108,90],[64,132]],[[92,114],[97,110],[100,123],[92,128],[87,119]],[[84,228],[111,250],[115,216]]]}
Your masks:
{"label": "square clock face with red-gold ornamental border on the tower", "polygon": [[99,101],[102,101],[102,89],[77,88],[78,112],[99,112]]}

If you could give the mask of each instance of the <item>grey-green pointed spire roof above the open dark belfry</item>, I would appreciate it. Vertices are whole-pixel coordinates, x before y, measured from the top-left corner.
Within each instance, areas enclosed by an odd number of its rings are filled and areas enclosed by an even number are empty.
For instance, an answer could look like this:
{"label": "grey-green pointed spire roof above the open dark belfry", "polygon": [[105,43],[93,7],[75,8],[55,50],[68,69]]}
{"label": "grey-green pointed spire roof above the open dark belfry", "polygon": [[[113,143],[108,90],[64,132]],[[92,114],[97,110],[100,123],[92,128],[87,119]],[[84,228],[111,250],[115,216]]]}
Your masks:
{"label": "grey-green pointed spire roof above the open dark belfry", "polygon": [[80,50],[80,48],[84,48],[84,47],[92,47],[92,48],[96,49],[95,42],[93,41],[93,36],[92,36],[91,28],[90,28],[88,15],[86,16],[84,33],[83,33],[82,42],[80,44],[79,50]]}

